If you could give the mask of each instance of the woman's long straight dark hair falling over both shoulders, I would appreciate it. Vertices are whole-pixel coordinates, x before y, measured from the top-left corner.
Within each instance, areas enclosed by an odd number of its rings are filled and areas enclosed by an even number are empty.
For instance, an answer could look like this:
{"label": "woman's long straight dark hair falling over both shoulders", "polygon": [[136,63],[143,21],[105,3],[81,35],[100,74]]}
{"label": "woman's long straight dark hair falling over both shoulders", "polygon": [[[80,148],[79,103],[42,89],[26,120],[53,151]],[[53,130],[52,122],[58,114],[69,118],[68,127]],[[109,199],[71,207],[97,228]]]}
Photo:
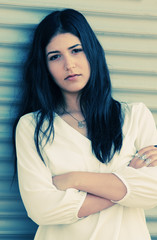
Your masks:
{"label": "woman's long straight dark hair falling over both shoulders", "polygon": [[93,152],[99,161],[107,163],[122,146],[121,104],[112,98],[110,75],[102,46],[85,17],[73,9],[52,12],[35,30],[24,72],[22,108],[15,123],[14,133],[22,115],[38,111],[35,115],[34,141],[40,156],[39,136],[45,118],[48,120],[48,127],[43,134],[47,141],[50,135],[54,134],[54,112],[59,107],[64,107],[65,102],[60,88],[48,72],[45,48],[50,39],[58,33],[72,33],[77,36],[89,61],[91,75],[81,91],[80,107],[86,119]]}

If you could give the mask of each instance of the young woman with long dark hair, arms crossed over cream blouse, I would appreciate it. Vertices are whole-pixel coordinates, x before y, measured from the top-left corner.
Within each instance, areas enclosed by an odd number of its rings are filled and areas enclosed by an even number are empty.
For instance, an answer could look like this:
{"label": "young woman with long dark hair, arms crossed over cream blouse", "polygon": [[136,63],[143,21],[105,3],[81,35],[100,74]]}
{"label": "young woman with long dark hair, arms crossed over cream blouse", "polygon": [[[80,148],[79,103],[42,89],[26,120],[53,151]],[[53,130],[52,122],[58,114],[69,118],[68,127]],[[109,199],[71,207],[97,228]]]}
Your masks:
{"label": "young woman with long dark hair, arms crossed over cream blouse", "polygon": [[112,98],[104,51],[81,13],[55,11],[38,25],[24,80],[17,167],[35,240],[150,239],[156,126],[143,103]]}

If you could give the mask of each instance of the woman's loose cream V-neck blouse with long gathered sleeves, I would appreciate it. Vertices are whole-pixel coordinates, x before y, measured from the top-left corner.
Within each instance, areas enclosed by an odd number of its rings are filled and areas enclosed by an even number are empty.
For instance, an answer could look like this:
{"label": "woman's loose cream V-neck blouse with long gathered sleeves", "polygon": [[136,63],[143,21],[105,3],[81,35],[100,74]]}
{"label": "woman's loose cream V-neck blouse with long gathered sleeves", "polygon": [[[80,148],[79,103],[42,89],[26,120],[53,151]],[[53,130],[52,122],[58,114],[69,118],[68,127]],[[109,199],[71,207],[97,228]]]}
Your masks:
{"label": "woman's loose cream V-neck blouse with long gathered sleeves", "polygon": [[[23,116],[16,130],[19,188],[28,216],[39,225],[35,240],[149,240],[144,209],[157,205],[157,167],[128,167],[137,150],[157,144],[152,114],[143,103],[122,104],[125,114],[123,145],[109,164],[92,153],[91,142],[55,116],[53,143],[42,150],[34,144],[33,113]],[[46,124],[46,122],[45,122]],[[127,194],[114,206],[85,218],[78,211],[86,193],[60,191],[52,176],[71,171],[114,173]]]}

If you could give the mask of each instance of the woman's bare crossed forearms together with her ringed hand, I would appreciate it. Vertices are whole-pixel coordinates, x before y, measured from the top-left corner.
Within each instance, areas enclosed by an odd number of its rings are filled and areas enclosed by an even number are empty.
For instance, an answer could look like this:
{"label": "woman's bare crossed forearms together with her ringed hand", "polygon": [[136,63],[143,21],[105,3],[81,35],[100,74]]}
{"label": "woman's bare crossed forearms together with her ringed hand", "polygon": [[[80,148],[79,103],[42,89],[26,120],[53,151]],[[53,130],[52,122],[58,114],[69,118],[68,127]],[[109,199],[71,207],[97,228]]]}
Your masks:
{"label": "woman's bare crossed forearms together with her ringed hand", "polygon": [[[138,156],[134,157],[129,166],[142,168],[146,166],[139,156],[150,159],[147,167],[157,166],[157,148],[149,146],[141,149]],[[85,217],[114,205],[113,201],[121,200],[127,193],[125,184],[112,173],[69,172],[53,177],[53,184],[59,190],[75,188],[87,192],[78,217]]]}

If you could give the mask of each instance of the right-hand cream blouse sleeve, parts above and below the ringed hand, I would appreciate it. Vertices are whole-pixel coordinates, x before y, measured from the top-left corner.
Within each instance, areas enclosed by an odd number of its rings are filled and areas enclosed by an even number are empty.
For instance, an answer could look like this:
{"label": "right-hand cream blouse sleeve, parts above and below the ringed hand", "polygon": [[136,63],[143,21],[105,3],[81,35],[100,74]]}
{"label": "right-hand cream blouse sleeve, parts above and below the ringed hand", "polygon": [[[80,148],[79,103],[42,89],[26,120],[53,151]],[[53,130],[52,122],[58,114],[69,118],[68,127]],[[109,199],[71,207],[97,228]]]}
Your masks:
{"label": "right-hand cream blouse sleeve, parts above and below the ringed hand", "polygon": [[[149,145],[157,144],[157,129],[153,116],[144,104],[139,104],[132,116],[135,119],[135,146],[139,150]],[[125,166],[114,171],[127,187],[127,194],[118,204],[126,207],[144,209],[157,205],[157,167],[134,169]]]}

